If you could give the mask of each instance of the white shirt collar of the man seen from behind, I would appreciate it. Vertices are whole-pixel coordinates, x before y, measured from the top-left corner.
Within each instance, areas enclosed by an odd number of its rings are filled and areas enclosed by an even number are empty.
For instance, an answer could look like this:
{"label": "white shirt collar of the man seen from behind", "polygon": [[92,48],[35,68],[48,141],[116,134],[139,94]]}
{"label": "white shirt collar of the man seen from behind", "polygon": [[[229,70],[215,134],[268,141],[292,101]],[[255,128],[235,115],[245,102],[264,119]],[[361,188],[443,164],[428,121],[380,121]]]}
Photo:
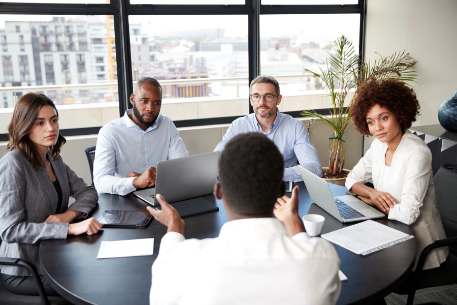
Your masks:
{"label": "white shirt collar of the man seen from behind", "polygon": [[[276,218],[244,218],[226,222],[220,228],[219,237],[287,235],[284,226]],[[243,237],[243,238],[244,238]]]}

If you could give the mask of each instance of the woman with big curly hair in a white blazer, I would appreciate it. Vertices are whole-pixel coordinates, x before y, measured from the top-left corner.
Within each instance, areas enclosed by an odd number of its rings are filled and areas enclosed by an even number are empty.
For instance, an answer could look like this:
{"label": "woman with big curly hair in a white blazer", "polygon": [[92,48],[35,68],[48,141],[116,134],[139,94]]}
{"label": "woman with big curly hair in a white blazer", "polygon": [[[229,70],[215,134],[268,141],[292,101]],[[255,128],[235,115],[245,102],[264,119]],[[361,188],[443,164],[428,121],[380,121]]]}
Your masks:
{"label": "woman with big curly hair in a white blazer", "polygon": [[[445,238],[435,204],[432,154],[411,127],[419,114],[412,88],[396,79],[369,79],[357,90],[351,106],[355,129],[375,139],[346,179],[346,188],[388,219],[411,225],[417,238],[417,255],[430,243]],[[374,188],[364,183],[373,180]],[[447,248],[433,251],[424,269],[446,260]]]}

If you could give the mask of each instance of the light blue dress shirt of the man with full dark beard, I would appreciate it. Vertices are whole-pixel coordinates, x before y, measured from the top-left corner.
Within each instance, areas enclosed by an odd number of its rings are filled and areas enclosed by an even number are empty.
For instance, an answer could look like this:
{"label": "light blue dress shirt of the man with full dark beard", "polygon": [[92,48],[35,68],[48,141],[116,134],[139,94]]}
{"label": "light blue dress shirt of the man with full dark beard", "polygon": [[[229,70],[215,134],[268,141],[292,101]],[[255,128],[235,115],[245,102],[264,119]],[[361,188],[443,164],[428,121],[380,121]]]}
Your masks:
{"label": "light blue dress shirt of the man with full dark beard", "polygon": [[130,172],[143,173],[157,167],[158,161],[189,155],[171,118],[159,114],[143,131],[128,117],[130,113],[132,109],[100,129],[93,162],[93,180],[99,193],[126,195],[135,191],[135,177],[125,178]]}

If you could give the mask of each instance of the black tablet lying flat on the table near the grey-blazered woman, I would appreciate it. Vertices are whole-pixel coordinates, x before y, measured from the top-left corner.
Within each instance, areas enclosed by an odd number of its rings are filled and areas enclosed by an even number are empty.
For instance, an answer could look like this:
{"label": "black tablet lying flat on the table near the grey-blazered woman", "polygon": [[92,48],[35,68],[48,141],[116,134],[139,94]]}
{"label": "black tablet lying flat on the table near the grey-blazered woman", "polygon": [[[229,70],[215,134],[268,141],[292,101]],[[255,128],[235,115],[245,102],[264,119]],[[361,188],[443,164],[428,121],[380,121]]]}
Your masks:
{"label": "black tablet lying flat on the table near the grey-blazered woman", "polygon": [[104,228],[141,228],[146,227],[151,219],[148,211],[105,210],[97,220]]}

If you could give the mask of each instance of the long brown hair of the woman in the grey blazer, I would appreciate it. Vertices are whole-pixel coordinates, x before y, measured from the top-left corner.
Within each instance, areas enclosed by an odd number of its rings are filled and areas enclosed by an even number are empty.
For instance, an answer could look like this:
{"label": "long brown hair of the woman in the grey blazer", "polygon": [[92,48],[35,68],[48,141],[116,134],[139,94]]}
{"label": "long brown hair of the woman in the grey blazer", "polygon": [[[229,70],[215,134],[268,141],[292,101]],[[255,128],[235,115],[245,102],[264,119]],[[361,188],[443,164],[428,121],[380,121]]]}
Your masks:
{"label": "long brown hair of the woman in the grey blazer", "polygon": [[[13,117],[8,125],[8,136],[10,138],[7,150],[16,149],[22,153],[35,169],[43,166],[43,162],[38,153],[34,142],[30,140],[28,134],[34,127],[35,119],[38,117],[41,107],[51,106],[54,108],[57,118],[59,113],[54,103],[44,94],[27,93],[19,98],[14,107]],[[60,134],[57,142],[51,147],[51,156],[55,159],[60,153],[60,148],[67,140]]]}

